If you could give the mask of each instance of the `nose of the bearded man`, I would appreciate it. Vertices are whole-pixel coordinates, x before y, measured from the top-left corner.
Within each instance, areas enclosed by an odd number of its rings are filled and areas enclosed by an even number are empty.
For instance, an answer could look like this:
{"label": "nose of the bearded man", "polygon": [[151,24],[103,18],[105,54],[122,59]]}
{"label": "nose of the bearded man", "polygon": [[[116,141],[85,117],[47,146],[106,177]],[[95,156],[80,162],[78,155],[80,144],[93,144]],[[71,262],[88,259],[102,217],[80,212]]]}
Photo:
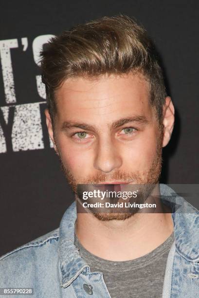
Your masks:
{"label": "nose of the bearded man", "polygon": [[109,173],[122,166],[122,158],[112,141],[101,141],[97,144],[94,168]]}

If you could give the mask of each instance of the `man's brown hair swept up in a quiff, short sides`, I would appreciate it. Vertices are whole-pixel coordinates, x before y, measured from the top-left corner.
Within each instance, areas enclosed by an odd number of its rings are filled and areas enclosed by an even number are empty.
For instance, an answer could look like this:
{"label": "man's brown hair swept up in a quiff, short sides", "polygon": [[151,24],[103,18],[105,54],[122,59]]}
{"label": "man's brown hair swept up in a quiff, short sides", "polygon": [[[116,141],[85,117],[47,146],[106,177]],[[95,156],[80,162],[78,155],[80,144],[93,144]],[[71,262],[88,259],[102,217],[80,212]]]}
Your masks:
{"label": "man's brown hair swept up in a quiff, short sides", "polygon": [[154,45],[145,29],[127,16],[104,17],[53,37],[40,53],[42,82],[54,126],[54,92],[69,77],[140,72],[149,82],[150,102],[162,122],[166,91]]}

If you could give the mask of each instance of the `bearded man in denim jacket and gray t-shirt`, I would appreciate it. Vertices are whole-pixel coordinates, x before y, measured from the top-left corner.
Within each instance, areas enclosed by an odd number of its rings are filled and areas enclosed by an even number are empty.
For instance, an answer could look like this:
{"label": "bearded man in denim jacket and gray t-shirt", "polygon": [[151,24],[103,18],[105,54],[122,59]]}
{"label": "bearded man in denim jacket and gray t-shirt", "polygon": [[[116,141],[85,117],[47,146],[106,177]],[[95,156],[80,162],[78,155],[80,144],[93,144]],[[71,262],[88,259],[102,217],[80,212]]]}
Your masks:
{"label": "bearded man in denim jacket and gray t-shirt", "polygon": [[198,211],[159,185],[174,107],[145,30],[126,16],[76,26],[51,39],[41,67],[75,202],[59,228],[1,257],[0,286],[38,298],[198,297]]}

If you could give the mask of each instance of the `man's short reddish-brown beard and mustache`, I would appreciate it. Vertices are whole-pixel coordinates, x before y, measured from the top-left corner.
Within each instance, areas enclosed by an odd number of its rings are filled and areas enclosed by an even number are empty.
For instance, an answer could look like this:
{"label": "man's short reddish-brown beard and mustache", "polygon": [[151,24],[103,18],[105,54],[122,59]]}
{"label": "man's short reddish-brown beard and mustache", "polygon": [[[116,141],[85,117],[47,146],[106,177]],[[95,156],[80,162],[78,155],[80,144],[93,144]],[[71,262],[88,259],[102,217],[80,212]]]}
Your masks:
{"label": "man's short reddish-brown beard and mustache", "polygon": [[[111,180],[116,181],[133,181],[133,184],[121,185],[123,190],[131,190],[131,192],[138,190],[138,195],[136,198],[131,198],[128,202],[136,203],[136,204],[143,204],[147,199],[152,198],[151,193],[159,182],[161,169],[162,169],[162,142],[163,142],[163,126],[160,127],[160,137],[157,140],[156,144],[156,153],[154,155],[153,161],[151,163],[151,167],[146,170],[145,172],[131,172],[126,173],[125,171],[116,171],[111,176]],[[82,206],[82,193],[85,190],[93,191],[93,189],[102,189],[106,188],[107,190],[115,190],[120,188],[120,185],[97,185],[101,182],[107,180],[106,174],[97,173],[96,175],[91,175],[82,181],[77,181],[75,177],[72,175],[71,171],[65,167],[63,164],[60,154],[58,154],[61,169],[67,178],[69,185],[72,187],[72,190],[77,196],[77,213],[88,213],[88,211],[83,208]],[[97,201],[98,199],[98,201]],[[100,198],[88,198],[87,203],[93,204],[96,202],[100,202]],[[118,201],[118,199],[117,199]],[[116,203],[115,199],[110,199],[106,197],[106,202]],[[151,203],[151,202],[150,202]],[[88,208],[86,208],[88,209]],[[125,208],[99,208],[99,207],[92,207],[90,208],[91,213],[101,221],[110,221],[110,220],[126,220],[130,218],[137,212],[139,212],[139,207],[125,207]]]}

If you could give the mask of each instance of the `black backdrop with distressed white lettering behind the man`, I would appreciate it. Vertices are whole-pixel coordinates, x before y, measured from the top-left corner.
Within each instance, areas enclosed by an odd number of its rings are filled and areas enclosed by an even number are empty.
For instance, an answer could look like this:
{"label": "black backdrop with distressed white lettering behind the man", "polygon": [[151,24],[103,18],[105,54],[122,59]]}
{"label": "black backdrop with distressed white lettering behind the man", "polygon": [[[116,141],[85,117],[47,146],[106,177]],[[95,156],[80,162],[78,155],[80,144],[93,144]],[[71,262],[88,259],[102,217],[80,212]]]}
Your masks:
{"label": "black backdrop with distressed white lettering behind the man", "polygon": [[199,1],[42,0],[0,5],[0,255],[58,227],[73,195],[51,148],[36,64],[50,35],[119,13],[144,25],[161,53],[176,108],[161,182],[199,181]]}

